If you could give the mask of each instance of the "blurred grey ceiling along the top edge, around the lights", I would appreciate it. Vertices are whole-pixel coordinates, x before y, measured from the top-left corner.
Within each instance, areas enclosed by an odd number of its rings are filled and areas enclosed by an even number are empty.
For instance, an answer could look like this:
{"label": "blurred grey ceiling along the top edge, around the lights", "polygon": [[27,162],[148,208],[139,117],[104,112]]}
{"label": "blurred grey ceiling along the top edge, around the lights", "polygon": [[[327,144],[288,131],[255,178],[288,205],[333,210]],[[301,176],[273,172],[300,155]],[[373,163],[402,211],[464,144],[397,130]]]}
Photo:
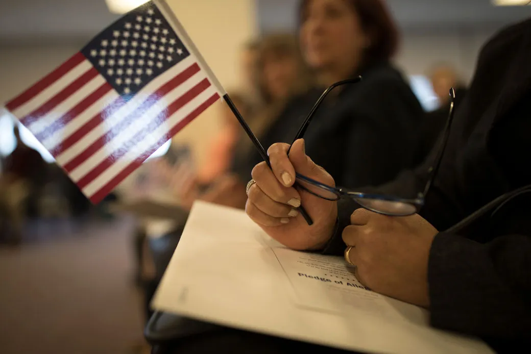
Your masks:
{"label": "blurred grey ceiling along the top edge, around the lights", "polygon": [[[256,1],[262,30],[295,27],[298,0]],[[531,16],[531,6],[495,7],[490,0],[388,0],[388,3],[403,28],[498,27]],[[107,10],[105,0],[1,0],[0,42],[84,41],[116,18]]]}

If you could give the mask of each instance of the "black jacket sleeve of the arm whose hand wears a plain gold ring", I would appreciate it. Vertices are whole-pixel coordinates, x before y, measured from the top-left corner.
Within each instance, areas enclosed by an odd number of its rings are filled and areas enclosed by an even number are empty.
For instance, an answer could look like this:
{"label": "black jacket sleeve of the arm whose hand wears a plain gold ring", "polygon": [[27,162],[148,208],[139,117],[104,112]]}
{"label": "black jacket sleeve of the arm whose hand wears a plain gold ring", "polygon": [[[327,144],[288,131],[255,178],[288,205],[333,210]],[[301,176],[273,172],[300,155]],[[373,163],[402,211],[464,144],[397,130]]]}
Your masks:
{"label": "black jacket sleeve of the arm whose hand wears a plain gold ring", "polygon": [[431,323],[481,338],[531,339],[531,238],[481,244],[437,235],[429,261]]}

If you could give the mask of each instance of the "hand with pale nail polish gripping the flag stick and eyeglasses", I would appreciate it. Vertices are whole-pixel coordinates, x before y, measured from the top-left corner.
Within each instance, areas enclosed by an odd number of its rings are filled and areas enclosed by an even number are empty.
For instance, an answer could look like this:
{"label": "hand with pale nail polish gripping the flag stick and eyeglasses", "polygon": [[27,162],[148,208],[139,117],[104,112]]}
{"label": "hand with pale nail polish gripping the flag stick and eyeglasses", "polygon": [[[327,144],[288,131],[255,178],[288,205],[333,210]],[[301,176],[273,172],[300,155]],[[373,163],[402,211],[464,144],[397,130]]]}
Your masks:
{"label": "hand with pale nail polish gripping the flag stick and eyeglasses", "polygon": [[[316,197],[303,189],[295,189],[295,171],[321,183],[334,186],[333,178],[306,156],[304,140],[289,145],[271,145],[268,155],[271,168],[261,162],[252,171],[255,184],[249,189],[245,211],[269,236],[293,249],[319,249],[332,236],[337,219],[336,202]],[[310,214],[313,225],[307,225],[296,208]]]}

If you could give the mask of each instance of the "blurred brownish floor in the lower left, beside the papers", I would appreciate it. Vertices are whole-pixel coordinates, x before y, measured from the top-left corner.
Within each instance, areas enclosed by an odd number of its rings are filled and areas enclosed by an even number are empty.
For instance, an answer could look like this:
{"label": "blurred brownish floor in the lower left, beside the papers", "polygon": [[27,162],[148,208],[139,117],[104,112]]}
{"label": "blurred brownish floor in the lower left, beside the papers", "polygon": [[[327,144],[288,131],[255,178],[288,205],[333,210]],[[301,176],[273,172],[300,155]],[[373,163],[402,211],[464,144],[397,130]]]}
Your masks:
{"label": "blurred brownish floor in the lower left, beside the papers", "polygon": [[0,247],[0,353],[134,352],[143,318],[132,220],[32,229],[20,247]]}

